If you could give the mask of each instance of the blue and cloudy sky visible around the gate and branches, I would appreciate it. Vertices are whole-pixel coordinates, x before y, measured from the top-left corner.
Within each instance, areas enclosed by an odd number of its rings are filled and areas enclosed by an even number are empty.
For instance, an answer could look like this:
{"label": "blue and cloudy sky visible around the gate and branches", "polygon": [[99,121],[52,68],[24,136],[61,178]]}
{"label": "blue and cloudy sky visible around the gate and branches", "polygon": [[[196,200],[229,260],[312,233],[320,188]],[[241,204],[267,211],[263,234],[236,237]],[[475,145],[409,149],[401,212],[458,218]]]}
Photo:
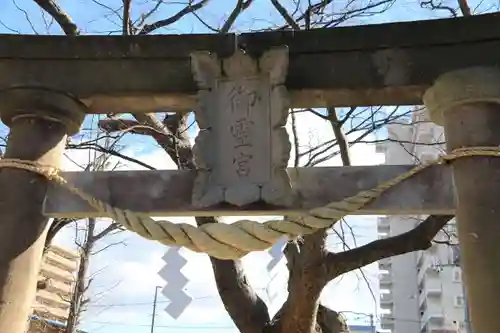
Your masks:
{"label": "blue and cloudy sky visible around the gate and branches", "polygon": [[[359,3],[368,3],[369,0],[360,0]],[[162,10],[151,16],[148,22],[165,18],[175,13],[185,1],[166,1]],[[334,2],[337,10],[341,10],[347,1]],[[452,0],[444,0],[445,4],[455,4]],[[120,20],[111,14],[105,6],[99,5],[92,0],[65,0],[58,1],[59,5],[69,13],[77,25],[85,34],[116,34],[120,29]],[[103,2],[107,7],[118,8],[121,1],[112,0]],[[177,3],[177,4],[170,4]],[[180,3],[180,4],[179,4]],[[199,13],[208,24],[219,27],[221,22],[228,16],[232,6],[236,1],[212,0],[210,4]],[[290,4],[291,1],[283,1]],[[474,0],[469,2],[471,7],[477,7],[477,12],[496,11],[496,3],[480,2]],[[134,18],[148,8],[152,2],[141,0],[133,1],[132,16]],[[21,10],[19,8],[20,7]],[[349,20],[349,25],[383,23],[390,21],[408,21],[438,18],[447,15],[446,12],[432,12],[421,8],[416,0],[397,0],[395,4],[384,13],[369,17],[359,17]],[[30,22],[26,19],[30,18]],[[12,0],[0,1],[0,33],[23,33],[23,34],[61,34],[56,24],[46,28],[43,15],[33,1],[14,2]],[[262,29],[273,24],[280,24],[283,20],[272,8],[268,0],[255,0],[251,8],[241,15],[232,31],[244,32],[252,29]],[[193,16],[186,16],[185,19],[172,26],[161,29],[158,33],[179,34],[179,33],[204,33],[210,32],[203,24],[194,19]],[[319,118],[310,115],[304,117],[299,122],[301,124],[300,133],[302,142],[309,143],[324,142],[332,138],[331,129],[328,124]],[[95,117],[88,117],[84,128],[91,128],[95,122]],[[0,132],[5,132],[5,127],[0,127]],[[192,128],[191,135],[194,135],[196,127]],[[93,130],[82,133],[93,133]],[[373,138],[372,138],[373,139]],[[306,142],[307,143],[307,142]],[[171,161],[154,142],[149,138],[138,136],[126,136],[122,145],[125,152],[135,158],[139,158],[157,168],[173,168]],[[72,160],[82,164],[88,160],[88,152],[69,153]],[[373,147],[361,145],[353,150],[355,164],[377,164],[382,163],[380,156],[376,156]],[[327,165],[336,164],[338,161],[329,161]],[[70,163],[68,162],[68,165]],[[140,169],[137,165],[128,165],[129,169]],[[174,219],[172,219],[174,220]],[[350,223],[356,233],[356,241],[359,244],[366,243],[376,237],[376,227],[374,217],[350,218]],[[103,222],[105,225],[105,222]],[[67,246],[73,246],[74,231],[67,229],[61,233],[57,242]],[[97,255],[91,264],[91,270],[95,274],[95,282],[92,288],[93,301],[84,317],[83,328],[92,333],[146,333],[149,332],[151,321],[152,300],[154,288],[165,283],[158,277],[157,272],[163,266],[161,257],[166,248],[154,242],[146,241],[131,233],[123,233],[111,238],[106,238],[99,244],[100,248],[115,242],[123,244],[116,245],[108,251]],[[330,246],[338,246],[335,237],[329,238]],[[351,240],[352,242],[352,240]],[[157,309],[157,321],[155,332],[169,333],[215,333],[230,332],[235,333],[234,325],[225,313],[221,301],[215,289],[213,275],[209,267],[208,258],[204,255],[188,253],[183,250],[189,263],[184,268],[185,275],[190,278],[187,287],[190,295],[194,298],[192,305],[186,313],[177,321],[163,313],[163,308],[167,305],[167,300],[159,297]],[[259,294],[270,305],[271,311],[276,311],[280,302],[284,300],[286,280],[286,270],[284,263],[276,268],[274,275],[265,271],[262,260],[268,260],[266,253],[253,253],[245,258],[244,263],[250,277],[250,282]],[[203,272],[200,274],[200,272]],[[376,281],[377,270],[371,265],[367,270],[367,276]],[[270,283],[270,281],[272,281]],[[372,283],[372,287],[377,293],[377,284]],[[279,296],[273,301],[267,297],[266,288],[271,288]],[[366,284],[360,282],[353,274],[333,281],[322,298],[326,305],[335,310],[355,311],[378,316],[377,305],[371,299]],[[363,315],[347,314],[352,323],[367,323],[367,317]]]}

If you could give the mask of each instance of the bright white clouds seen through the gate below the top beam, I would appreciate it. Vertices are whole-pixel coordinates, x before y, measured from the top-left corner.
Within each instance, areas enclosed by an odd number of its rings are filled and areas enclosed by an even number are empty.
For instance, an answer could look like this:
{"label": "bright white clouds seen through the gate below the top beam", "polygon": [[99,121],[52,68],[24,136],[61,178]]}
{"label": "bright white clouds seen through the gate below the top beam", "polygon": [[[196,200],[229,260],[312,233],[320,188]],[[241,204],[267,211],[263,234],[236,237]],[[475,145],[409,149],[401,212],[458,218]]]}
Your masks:
{"label": "bright white clouds seen through the gate below the top beam", "polygon": [[[323,143],[333,138],[332,129],[327,121],[310,113],[297,114],[298,134],[300,137],[301,146],[315,145]],[[288,129],[290,124],[287,125]],[[290,131],[290,129],[289,129]],[[355,137],[356,134],[349,136],[349,139]],[[370,139],[370,136],[367,140]],[[152,151],[144,151],[138,149],[134,145],[127,147],[122,152],[125,155],[133,156],[140,161],[147,163],[158,169],[174,169],[175,165],[167,154],[161,149]],[[88,151],[76,150],[68,152],[69,158],[65,158],[63,168],[65,170],[79,170],[75,166],[85,165],[92,155]],[[375,154],[375,148],[372,145],[365,143],[356,144],[351,147],[352,163],[354,165],[373,165],[383,162],[383,156]],[[293,149],[292,149],[293,159]],[[291,160],[292,160],[291,159]],[[117,158],[112,158],[113,162],[117,162]],[[339,156],[336,156],[321,166],[341,165]],[[122,169],[145,169],[137,164],[127,162]],[[253,218],[262,220],[266,217],[227,217],[227,222],[232,222],[242,218]],[[171,221],[182,221],[194,224],[194,219],[186,217],[168,218]],[[355,217],[350,219],[351,224],[357,234],[362,236],[357,240],[360,243],[366,243],[375,236],[375,219],[373,217]],[[103,222],[105,223],[105,222]],[[69,245],[73,232],[65,230],[61,233],[56,242]],[[125,240],[127,246],[116,246],[105,252],[100,253],[92,262],[92,270],[99,271],[106,267],[96,277],[94,292],[103,292],[110,286],[115,286],[111,291],[104,292],[100,296],[98,302],[90,307],[86,319],[86,326],[98,327],[96,322],[119,322],[123,324],[136,324],[138,322],[148,323],[151,319],[151,306],[153,300],[154,289],[157,285],[164,285],[162,279],[157,275],[157,272],[162,268],[163,262],[161,257],[167,250],[165,246],[140,238],[133,233],[124,233],[118,236],[120,240]],[[114,239],[113,239],[114,240]],[[104,242],[112,242],[113,240],[104,240]],[[329,246],[336,247],[338,238],[331,236],[329,238]],[[102,244],[101,244],[102,246]],[[163,308],[167,301],[163,296],[159,297],[159,306],[157,309],[158,325],[175,326],[181,324],[206,324],[206,325],[231,325],[230,319],[224,310],[220,301],[213,272],[211,270],[210,261],[206,255],[196,254],[189,250],[181,251],[188,259],[188,264],[183,268],[183,273],[190,279],[187,286],[187,291],[195,299],[193,304],[186,312],[174,321],[163,313]],[[247,272],[248,278],[252,286],[257,290],[266,301],[269,301],[266,294],[271,280],[271,275],[266,271],[267,262],[270,257],[266,252],[251,253],[243,259],[243,265]],[[373,265],[367,269],[367,275],[373,277],[376,272],[376,267]],[[286,279],[287,271],[282,263],[274,271],[276,275],[273,280],[271,291],[278,292],[278,297],[270,304],[271,312],[275,312],[281,302],[286,297]],[[360,312],[374,312],[374,305],[371,301],[371,296],[367,291],[366,286],[359,285],[359,279],[355,274],[347,274],[341,281],[332,282],[325,288],[322,294],[322,301],[337,310],[350,310]],[[376,289],[376,286],[374,286]],[[125,304],[125,305],[124,305]],[[128,304],[128,305],[127,305]],[[109,305],[109,307],[108,307]],[[123,329],[123,327],[121,327]],[[140,327],[130,327],[130,332],[142,333]],[[114,331],[113,331],[114,332]],[[120,331],[127,333],[128,330]],[[146,331],[144,331],[146,332]]]}

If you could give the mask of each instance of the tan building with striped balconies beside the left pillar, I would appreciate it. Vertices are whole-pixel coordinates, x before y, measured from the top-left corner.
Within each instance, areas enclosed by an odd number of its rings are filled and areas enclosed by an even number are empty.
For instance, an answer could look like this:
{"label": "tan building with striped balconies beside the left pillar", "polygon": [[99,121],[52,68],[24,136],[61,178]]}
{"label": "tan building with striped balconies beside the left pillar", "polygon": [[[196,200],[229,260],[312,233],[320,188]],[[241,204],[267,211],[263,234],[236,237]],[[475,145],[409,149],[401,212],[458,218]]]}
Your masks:
{"label": "tan building with striped balconies beside the left pillar", "polygon": [[44,288],[36,293],[28,333],[63,332],[69,314],[78,260],[78,255],[71,251],[56,245],[50,246],[38,277]]}

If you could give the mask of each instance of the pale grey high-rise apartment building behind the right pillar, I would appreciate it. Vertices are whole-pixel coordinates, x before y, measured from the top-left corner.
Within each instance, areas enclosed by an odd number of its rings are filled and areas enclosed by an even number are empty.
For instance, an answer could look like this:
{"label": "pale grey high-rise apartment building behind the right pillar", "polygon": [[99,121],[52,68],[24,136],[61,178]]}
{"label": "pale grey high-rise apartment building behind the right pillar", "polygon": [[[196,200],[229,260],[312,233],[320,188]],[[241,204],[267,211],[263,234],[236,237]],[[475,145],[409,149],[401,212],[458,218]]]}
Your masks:
{"label": "pale grey high-rise apartment building behind the right pillar", "polygon": [[[443,129],[415,112],[411,120],[391,124],[389,141],[377,151],[386,164],[416,164],[444,152]],[[386,216],[378,220],[380,238],[418,225],[425,216]],[[436,239],[456,244],[450,222]],[[465,333],[466,300],[458,246],[434,244],[427,251],[408,253],[379,262],[381,327],[393,333]],[[470,332],[469,332],[470,333]]]}

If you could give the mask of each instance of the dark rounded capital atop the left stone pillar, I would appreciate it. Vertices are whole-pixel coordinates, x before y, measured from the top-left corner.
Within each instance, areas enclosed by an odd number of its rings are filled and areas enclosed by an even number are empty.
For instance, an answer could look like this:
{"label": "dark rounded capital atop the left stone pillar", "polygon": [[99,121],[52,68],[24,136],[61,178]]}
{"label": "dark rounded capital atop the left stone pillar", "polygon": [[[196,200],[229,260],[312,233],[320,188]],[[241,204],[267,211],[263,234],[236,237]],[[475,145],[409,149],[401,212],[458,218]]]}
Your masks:
{"label": "dark rounded capital atop the left stone pillar", "polygon": [[74,135],[86,115],[86,107],[77,98],[42,87],[16,87],[0,91],[0,119],[11,127],[19,118],[39,118],[63,123],[68,135]]}

